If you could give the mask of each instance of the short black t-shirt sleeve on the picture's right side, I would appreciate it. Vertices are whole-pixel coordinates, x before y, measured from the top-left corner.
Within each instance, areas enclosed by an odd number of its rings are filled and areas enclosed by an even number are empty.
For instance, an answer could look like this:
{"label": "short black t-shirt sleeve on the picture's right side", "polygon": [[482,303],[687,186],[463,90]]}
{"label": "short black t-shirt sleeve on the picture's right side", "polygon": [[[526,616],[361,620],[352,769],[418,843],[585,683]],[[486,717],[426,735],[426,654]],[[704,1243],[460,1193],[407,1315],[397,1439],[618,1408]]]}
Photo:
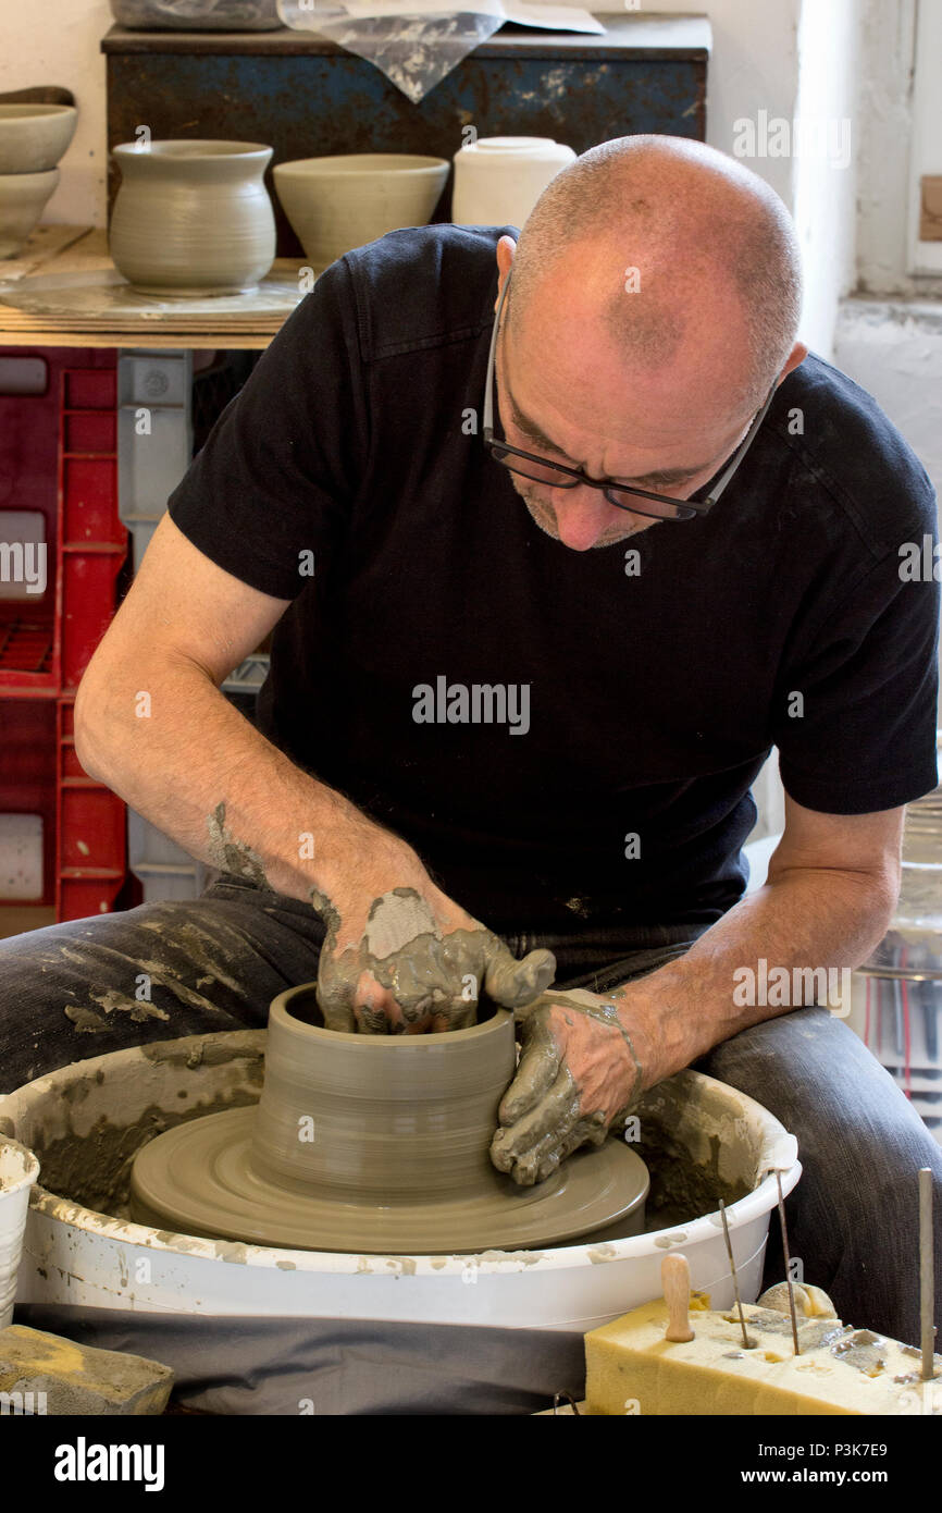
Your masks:
{"label": "short black t-shirt sleeve on the picture's right side", "polygon": [[779,685],[782,782],[809,809],[894,809],[939,781],[934,508],[912,539],[928,572],[913,576],[903,546],[885,554],[830,611]]}

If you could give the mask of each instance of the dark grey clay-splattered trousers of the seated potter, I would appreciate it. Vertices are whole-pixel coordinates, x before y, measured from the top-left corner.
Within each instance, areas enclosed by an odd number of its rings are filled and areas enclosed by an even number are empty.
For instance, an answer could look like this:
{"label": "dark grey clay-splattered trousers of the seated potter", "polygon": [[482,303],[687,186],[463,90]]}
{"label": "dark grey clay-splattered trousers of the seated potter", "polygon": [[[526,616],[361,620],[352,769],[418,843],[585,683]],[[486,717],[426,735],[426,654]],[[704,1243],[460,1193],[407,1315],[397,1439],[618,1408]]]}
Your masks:
{"label": "dark grey clay-splattered trousers of the seated potter", "polygon": [[[664,965],[696,929],[505,935],[547,946],[559,986],[606,993]],[[0,941],[0,1092],[85,1056],[154,1039],[263,1027],[277,993],[318,974],[308,905],[222,876],[201,899],[148,903]],[[862,1041],[826,1009],[794,1009],[696,1062],[798,1139],[789,1245],[847,1322],[919,1344],[916,1170],[934,1173],[942,1319],[942,1150]],[[785,1263],[773,1215],[765,1286]]]}

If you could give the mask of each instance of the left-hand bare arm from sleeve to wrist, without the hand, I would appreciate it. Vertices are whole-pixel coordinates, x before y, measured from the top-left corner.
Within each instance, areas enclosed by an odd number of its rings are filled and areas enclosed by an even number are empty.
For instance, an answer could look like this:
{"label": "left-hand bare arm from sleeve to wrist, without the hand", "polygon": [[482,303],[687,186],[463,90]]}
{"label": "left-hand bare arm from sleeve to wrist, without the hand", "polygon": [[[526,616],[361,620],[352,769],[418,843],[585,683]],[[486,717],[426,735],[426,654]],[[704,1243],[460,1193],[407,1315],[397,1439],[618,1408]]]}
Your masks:
{"label": "left-hand bare arm from sleeve to wrist, without the hand", "polygon": [[76,752],[192,856],[310,900],[333,897],[351,847],[367,867],[386,838],[219,691],[289,602],[216,567],[165,516],[82,679]]}

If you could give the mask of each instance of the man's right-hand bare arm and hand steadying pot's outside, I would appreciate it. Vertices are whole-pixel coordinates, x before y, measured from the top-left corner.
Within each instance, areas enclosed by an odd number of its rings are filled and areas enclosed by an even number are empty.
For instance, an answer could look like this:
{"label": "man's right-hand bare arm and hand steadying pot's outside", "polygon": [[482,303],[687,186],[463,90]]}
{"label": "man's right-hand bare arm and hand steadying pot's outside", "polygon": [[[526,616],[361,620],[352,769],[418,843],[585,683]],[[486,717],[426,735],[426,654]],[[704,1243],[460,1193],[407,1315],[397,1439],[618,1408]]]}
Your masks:
{"label": "man's right-hand bare arm and hand steadying pot's outside", "polygon": [[[526,1008],[520,1067],[491,1145],[494,1165],[520,1183],[544,1180],[570,1151],[605,1139],[615,1115],[646,1088],[750,1024],[813,1003],[810,979],[795,977],[795,968],[859,965],[897,900],[903,816],[817,814],[786,797],[785,835],[767,884],[683,956],[603,997],[550,990]],[[788,973],[785,1002],[736,1002],[747,997],[738,973],[745,968],[761,980],[762,959],[773,982],[776,967]]]}

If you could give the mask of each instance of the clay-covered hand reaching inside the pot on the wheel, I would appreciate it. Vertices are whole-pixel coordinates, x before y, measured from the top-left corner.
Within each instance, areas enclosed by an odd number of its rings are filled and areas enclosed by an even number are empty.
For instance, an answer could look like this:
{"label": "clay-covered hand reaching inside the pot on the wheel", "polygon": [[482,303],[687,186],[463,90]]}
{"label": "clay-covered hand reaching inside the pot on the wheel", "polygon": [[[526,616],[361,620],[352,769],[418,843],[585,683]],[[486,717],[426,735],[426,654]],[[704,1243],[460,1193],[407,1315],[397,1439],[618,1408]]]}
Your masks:
{"label": "clay-covered hand reaching inside the pot on the wheel", "polygon": [[522,961],[479,920],[443,894],[392,888],[372,900],[351,930],[318,900],[328,932],[321,950],[318,1003],[334,1030],[414,1035],[475,1024],[478,999],[522,1009],[553,980],[549,950]]}

